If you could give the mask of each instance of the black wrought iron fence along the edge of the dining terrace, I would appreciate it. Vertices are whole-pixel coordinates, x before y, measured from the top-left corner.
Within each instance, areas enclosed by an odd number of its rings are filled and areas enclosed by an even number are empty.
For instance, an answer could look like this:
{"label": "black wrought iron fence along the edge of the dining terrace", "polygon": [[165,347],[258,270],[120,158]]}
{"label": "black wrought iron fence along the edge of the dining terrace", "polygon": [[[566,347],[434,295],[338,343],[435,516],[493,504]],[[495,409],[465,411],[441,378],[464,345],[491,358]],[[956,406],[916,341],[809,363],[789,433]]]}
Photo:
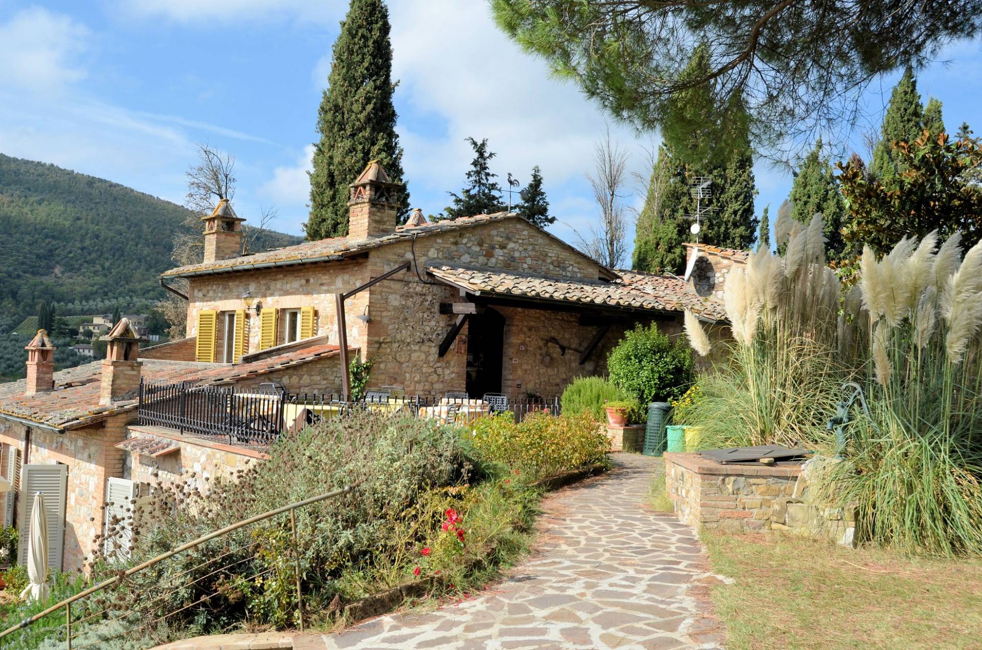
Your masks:
{"label": "black wrought iron fence along the edge of the dining terrace", "polygon": [[511,411],[518,421],[532,412],[559,414],[561,404],[558,397],[489,395],[469,399],[388,391],[368,391],[353,401],[337,393],[290,394],[282,390],[195,386],[192,382],[140,382],[137,416],[139,424],[176,429],[182,435],[192,433],[222,438],[232,444],[266,446],[284,431],[359,410],[460,423],[499,411]]}

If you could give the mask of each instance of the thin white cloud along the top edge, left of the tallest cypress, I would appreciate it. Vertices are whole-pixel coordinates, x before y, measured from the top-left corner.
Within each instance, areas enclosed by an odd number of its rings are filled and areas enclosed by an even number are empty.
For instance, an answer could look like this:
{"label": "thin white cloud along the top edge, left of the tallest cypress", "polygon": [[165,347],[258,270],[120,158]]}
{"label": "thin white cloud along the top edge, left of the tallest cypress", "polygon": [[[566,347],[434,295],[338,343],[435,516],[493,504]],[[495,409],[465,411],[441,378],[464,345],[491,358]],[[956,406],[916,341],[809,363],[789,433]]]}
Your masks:
{"label": "thin white cloud along the top edge, left of the tallest cypress", "polygon": [[348,9],[341,0],[118,0],[132,18],[165,18],[177,23],[289,21],[331,23]]}

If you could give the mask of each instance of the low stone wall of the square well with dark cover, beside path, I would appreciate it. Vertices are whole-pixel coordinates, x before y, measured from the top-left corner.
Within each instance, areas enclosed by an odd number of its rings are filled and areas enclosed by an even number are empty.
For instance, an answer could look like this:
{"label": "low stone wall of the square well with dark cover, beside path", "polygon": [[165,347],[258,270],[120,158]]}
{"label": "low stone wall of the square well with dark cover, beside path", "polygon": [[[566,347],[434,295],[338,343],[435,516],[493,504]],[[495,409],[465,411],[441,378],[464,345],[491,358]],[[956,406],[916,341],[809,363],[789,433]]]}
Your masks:
{"label": "low stone wall of the square well with dark cover, beside path", "polygon": [[809,476],[827,460],[792,465],[721,464],[698,454],[665,457],[675,512],[695,527],[729,532],[787,530],[855,543],[855,510],[818,503]]}

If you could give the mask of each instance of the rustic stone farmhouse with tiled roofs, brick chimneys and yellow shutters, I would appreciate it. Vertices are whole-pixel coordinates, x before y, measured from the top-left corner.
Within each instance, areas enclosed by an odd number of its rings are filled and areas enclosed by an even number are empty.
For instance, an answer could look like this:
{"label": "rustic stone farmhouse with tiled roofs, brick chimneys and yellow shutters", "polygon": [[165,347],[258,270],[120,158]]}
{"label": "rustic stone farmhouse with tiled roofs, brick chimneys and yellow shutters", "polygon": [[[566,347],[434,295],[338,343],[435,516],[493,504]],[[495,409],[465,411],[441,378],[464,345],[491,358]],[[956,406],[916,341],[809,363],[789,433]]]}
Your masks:
{"label": "rustic stone farmhouse with tiled roofs, brick chimneys and yellow shutters", "polygon": [[140,424],[151,384],[349,394],[345,369],[360,358],[373,362],[369,388],[408,396],[552,397],[576,376],[604,374],[635,323],[676,335],[690,308],[727,335],[718,294],[742,251],[699,246],[691,282],[609,269],[516,214],[428,223],[415,210],[397,226],[395,187],[370,163],[351,186],[347,237],[245,256],[244,220],[222,200],[203,218],[203,261],[161,276],[188,299],[186,339],[139,349],[145,340],[123,318],[102,337],[105,360],[55,373],[38,332],[27,379],[0,384],[0,474],[13,487],[0,495],[4,523],[26,539],[28,497],[44,492],[49,563],[79,569],[107,517],[157,481],[194,472],[205,489],[265,458],[206,428]]}

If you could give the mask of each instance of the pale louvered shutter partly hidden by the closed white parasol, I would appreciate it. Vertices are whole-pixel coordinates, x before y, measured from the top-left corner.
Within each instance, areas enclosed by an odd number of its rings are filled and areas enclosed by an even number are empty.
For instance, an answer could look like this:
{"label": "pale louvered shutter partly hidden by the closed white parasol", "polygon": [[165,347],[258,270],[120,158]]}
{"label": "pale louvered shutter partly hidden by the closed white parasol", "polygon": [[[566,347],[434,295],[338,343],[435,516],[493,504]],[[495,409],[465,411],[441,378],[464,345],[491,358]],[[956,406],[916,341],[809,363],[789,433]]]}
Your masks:
{"label": "pale louvered shutter partly hidden by the closed white parasol", "polygon": [[65,546],[65,496],[68,491],[68,465],[24,465],[21,467],[21,499],[18,504],[17,552],[22,565],[27,564],[27,540],[30,539],[30,511],[34,495],[44,495],[48,514],[48,567],[62,569]]}

